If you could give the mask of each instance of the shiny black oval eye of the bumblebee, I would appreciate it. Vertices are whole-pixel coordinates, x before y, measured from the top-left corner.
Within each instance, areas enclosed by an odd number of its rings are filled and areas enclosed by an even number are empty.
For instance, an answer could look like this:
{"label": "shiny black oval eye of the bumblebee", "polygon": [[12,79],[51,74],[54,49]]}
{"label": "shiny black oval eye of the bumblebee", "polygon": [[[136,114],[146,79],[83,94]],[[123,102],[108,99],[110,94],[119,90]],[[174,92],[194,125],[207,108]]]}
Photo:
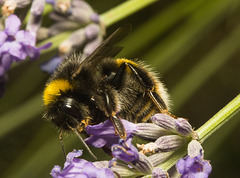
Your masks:
{"label": "shiny black oval eye of the bumblebee", "polygon": [[80,113],[79,107],[77,105],[77,102],[75,100],[73,100],[72,98],[66,98],[64,100],[64,103],[63,103],[61,109],[66,114],[68,114],[76,119],[81,118],[81,113]]}

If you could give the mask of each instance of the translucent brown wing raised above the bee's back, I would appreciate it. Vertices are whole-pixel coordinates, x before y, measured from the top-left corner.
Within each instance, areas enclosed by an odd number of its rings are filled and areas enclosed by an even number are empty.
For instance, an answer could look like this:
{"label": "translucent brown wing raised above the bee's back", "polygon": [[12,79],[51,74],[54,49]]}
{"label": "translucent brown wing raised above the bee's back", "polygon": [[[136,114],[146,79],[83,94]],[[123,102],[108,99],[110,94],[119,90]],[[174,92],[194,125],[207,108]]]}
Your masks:
{"label": "translucent brown wing raised above the bee's back", "polygon": [[124,39],[130,31],[130,24],[119,27],[81,63],[78,70],[72,75],[72,78],[76,77],[81,72],[82,68],[95,68],[102,59],[106,57],[115,57],[123,49],[123,47],[115,46],[115,44]]}

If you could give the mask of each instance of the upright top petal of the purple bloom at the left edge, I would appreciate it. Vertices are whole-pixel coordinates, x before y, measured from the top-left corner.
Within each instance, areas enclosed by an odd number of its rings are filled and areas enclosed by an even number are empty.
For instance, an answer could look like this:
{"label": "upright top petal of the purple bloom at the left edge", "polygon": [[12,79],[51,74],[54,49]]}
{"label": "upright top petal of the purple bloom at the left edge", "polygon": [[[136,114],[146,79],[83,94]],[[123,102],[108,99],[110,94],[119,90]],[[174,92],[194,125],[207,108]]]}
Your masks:
{"label": "upright top petal of the purple bloom at the left edge", "polygon": [[5,32],[8,35],[15,35],[21,25],[20,19],[12,14],[5,21]]}

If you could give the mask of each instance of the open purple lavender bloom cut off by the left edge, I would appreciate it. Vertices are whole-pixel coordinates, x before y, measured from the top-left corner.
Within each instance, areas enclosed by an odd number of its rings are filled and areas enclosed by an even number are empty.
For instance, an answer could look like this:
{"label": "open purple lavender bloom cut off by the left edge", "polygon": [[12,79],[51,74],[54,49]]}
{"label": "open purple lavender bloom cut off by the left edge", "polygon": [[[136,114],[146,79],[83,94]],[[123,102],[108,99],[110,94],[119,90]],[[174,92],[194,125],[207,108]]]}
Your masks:
{"label": "open purple lavender bloom cut off by the left edge", "polygon": [[39,48],[36,45],[36,37],[28,31],[19,30],[20,19],[12,14],[5,20],[5,30],[0,31],[0,88],[3,91],[4,75],[9,70],[12,62],[19,62],[28,56],[37,59],[40,51],[51,46],[47,43]]}

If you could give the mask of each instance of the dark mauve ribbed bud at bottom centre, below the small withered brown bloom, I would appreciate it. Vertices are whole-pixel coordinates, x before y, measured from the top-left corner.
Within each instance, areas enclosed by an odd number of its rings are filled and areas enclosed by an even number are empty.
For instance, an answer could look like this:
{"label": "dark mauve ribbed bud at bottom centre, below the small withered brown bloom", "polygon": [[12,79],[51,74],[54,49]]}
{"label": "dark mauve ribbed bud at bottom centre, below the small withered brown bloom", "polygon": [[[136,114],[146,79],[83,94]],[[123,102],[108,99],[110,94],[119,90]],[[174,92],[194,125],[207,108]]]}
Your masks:
{"label": "dark mauve ribbed bud at bottom centre, below the small withered brown bloom", "polygon": [[143,174],[149,174],[152,172],[153,165],[144,154],[139,153],[139,159],[132,161],[130,164],[133,168],[139,170]]}

